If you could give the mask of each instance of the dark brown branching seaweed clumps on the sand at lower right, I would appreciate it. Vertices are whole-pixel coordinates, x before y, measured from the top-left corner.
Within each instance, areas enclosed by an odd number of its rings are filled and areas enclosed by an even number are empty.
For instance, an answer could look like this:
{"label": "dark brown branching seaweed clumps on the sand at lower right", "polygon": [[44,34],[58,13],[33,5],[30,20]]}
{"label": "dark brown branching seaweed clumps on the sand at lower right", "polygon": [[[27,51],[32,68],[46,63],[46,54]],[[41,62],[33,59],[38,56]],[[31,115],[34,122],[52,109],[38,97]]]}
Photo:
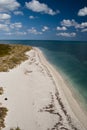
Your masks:
{"label": "dark brown branching seaweed clumps on the sand at lower right", "polygon": [[[47,130],[70,130],[69,128],[67,128],[64,125],[62,115],[58,112],[58,110],[55,109],[54,97],[53,97],[52,93],[50,93],[50,94],[51,94],[51,102],[48,105],[46,105],[45,107],[43,107],[42,109],[40,109],[39,112],[48,112],[50,114],[53,114],[53,115],[57,116],[58,117],[58,122],[56,122],[51,129],[48,128]],[[68,125],[71,127],[71,129],[78,130],[72,124],[71,117],[67,114],[67,112],[66,112],[66,110],[64,108],[64,105],[62,104],[60,98],[57,98],[57,100],[59,100],[58,103],[60,102],[59,105],[61,106],[61,110],[63,111],[63,113],[64,113],[64,115],[65,115],[65,117],[67,119]]]}

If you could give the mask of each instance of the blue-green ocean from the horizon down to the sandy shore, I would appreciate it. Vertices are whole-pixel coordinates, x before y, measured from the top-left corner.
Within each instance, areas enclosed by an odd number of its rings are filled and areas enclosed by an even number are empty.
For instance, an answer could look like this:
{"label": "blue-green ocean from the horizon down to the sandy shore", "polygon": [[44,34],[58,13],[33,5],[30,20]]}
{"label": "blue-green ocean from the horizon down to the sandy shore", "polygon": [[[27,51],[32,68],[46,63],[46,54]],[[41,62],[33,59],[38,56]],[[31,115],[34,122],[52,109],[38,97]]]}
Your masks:
{"label": "blue-green ocean from the horizon down to the sandy shore", "polygon": [[87,110],[87,42],[8,40],[0,43],[24,44],[39,47],[47,60],[64,76],[74,96]]}

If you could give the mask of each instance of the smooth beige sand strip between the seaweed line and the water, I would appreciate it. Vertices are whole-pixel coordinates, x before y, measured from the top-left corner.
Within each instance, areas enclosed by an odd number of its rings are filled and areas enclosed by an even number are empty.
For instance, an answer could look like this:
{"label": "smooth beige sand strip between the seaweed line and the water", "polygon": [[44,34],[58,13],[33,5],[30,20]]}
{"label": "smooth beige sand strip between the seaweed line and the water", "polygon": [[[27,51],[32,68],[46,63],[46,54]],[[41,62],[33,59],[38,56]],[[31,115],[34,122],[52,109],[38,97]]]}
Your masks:
{"label": "smooth beige sand strip between the seaweed line and the water", "polygon": [[[87,115],[85,115],[85,111],[79,106],[77,100],[73,97],[72,92],[70,91],[69,87],[67,87],[67,84],[65,83],[64,79],[58,73],[54,67],[49,64],[49,62],[44,58],[43,53],[41,50],[36,48],[40,55],[41,62],[47,66],[50,73],[53,76],[53,79],[56,83],[57,89],[60,93],[60,97],[63,101],[63,104],[65,105],[66,109],[70,107],[70,113],[72,112],[74,116],[79,120],[80,124],[84,126],[84,129],[87,129]],[[65,101],[66,100],[66,101]],[[69,109],[68,109],[69,113]],[[72,114],[70,114],[72,116]],[[73,116],[72,116],[73,117]],[[73,118],[74,121],[74,118]],[[75,120],[76,121],[76,120]]]}

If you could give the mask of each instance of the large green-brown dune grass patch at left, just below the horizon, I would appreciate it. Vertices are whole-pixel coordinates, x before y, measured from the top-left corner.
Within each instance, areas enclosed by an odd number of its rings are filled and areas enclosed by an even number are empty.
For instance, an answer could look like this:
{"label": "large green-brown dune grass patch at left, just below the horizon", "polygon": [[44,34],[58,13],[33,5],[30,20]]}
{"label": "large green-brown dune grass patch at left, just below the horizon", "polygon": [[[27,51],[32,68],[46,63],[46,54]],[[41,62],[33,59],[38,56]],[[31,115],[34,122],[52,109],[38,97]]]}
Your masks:
{"label": "large green-brown dune grass patch at left, just below the horizon", "polygon": [[0,72],[7,72],[27,60],[25,52],[31,49],[25,45],[0,44]]}

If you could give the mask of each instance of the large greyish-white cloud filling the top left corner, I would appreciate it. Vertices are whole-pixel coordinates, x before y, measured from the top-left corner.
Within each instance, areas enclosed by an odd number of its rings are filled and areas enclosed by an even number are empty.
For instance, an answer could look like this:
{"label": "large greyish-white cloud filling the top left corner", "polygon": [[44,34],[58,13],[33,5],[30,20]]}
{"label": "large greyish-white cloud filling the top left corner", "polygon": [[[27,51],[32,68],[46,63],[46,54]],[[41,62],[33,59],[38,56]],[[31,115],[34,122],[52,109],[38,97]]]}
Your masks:
{"label": "large greyish-white cloud filling the top left corner", "polygon": [[0,11],[13,11],[18,7],[20,4],[16,0],[0,0]]}

